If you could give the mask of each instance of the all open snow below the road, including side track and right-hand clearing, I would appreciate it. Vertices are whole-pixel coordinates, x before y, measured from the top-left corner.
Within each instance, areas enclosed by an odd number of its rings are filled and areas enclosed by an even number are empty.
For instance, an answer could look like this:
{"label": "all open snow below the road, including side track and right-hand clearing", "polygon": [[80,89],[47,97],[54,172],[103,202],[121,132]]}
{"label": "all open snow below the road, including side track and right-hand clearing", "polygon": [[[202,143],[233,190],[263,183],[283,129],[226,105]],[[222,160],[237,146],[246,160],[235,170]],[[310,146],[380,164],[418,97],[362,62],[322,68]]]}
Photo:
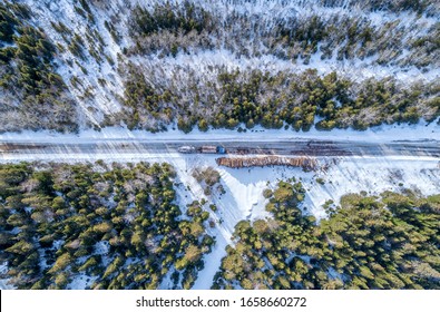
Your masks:
{"label": "all open snow below the road, including side track and right-hand clearing", "polygon": [[[65,159],[60,158],[60,162]],[[85,159],[69,159],[68,162],[81,162]],[[92,160],[92,159],[89,159]],[[205,267],[199,272],[194,289],[209,289],[214,274],[217,272],[221,260],[225,255],[225,247],[231,241],[234,226],[241,220],[257,220],[268,216],[264,207],[266,199],[263,197],[265,188],[274,189],[278,181],[295,177],[303,183],[306,196],[303,208],[316,218],[326,217],[323,204],[332,199],[338,205],[340,196],[348,193],[365,191],[369,194],[380,194],[384,191],[403,191],[411,188],[423,195],[440,193],[440,163],[432,157],[338,157],[321,158],[320,164],[327,164],[326,169],[305,173],[301,168],[265,167],[248,169],[232,169],[217,167],[215,156],[201,155],[138,155],[137,159],[114,158],[108,162],[167,162],[177,172],[177,181],[182,183],[177,187],[177,201],[182,207],[202,198],[214,203],[217,212],[212,214],[215,228],[208,228],[211,235],[216,236],[216,245],[211,254],[205,256]],[[221,184],[226,194],[213,192],[205,196],[202,186],[192,176],[192,170],[199,167],[215,167],[221,174]],[[322,178],[324,184],[316,182]],[[81,276],[70,284],[72,289],[81,289],[87,276]],[[3,287],[3,285],[1,285]]]}

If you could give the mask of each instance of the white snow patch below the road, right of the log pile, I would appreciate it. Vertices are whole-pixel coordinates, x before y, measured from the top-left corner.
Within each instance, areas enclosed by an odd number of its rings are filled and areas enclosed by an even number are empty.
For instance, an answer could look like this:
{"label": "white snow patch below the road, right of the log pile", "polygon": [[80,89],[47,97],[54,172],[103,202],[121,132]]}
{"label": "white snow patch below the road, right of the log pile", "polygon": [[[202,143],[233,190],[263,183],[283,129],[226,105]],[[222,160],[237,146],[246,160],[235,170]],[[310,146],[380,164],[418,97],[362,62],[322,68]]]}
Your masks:
{"label": "white snow patch below the road, right of the log pile", "polygon": [[[335,159],[335,162],[332,162]],[[341,157],[326,159],[333,164],[327,170],[304,182],[304,206],[315,217],[326,217],[322,205],[332,199],[336,205],[341,196],[365,191],[379,195],[385,191],[402,192],[405,188],[421,195],[440,193],[440,160],[431,157]],[[315,178],[323,178],[324,184]]]}

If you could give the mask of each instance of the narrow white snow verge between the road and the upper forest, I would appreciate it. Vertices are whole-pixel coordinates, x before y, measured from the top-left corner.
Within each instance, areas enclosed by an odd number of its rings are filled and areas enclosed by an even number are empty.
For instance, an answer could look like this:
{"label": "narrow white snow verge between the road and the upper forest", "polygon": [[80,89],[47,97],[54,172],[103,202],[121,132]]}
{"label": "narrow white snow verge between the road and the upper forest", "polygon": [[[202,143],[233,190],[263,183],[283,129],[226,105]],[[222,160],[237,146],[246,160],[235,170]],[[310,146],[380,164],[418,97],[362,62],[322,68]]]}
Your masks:
{"label": "narrow white snow verge between the road and the upper forest", "polygon": [[165,133],[151,134],[143,130],[129,130],[126,127],[107,127],[100,131],[82,130],[79,134],[59,134],[48,130],[21,131],[0,134],[0,143],[52,143],[52,144],[87,144],[97,142],[178,142],[178,140],[257,140],[257,142],[280,142],[289,139],[321,139],[321,140],[356,140],[387,143],[395,140],[440,140],[440,125],[436,121],[427,124],[420,121],[417,125],[383,125],[369,128],[364,131],[353,129],[333,129],[331,131],[320,131],[315,128],[310,131],[294,131],[292,129],[264,129],[260,126],[238,133],[227,129],[212,129],[206,133],[194,129],[189,134],[180,130],[169,129]]}

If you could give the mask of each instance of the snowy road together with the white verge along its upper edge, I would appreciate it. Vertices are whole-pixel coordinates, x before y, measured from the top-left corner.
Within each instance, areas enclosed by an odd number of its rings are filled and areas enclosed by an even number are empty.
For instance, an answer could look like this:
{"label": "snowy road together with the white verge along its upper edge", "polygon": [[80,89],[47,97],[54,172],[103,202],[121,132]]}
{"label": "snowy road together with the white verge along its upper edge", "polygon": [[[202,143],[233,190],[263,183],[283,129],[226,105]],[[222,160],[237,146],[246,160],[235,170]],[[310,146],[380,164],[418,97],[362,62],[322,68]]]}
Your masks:
{"label": "snowy road together with the white verge along its upper edge", "polygon": [[[22,131],[0,134],[0,162],[59,160],[114,162],[180,158],[179,146],[222,145],[228,153],[248,150],[252,154],[307,156],[393,156],[439,157],[440,126],[433,121],[418,125],[380,126],[365,131],[334,129],[332,131],[293,131],[255,127],[246,133],[215,129],[184,134],[168,129],[151,134],[124,127],[79,134]],[[188,156],[189,157],[189,156]]]}

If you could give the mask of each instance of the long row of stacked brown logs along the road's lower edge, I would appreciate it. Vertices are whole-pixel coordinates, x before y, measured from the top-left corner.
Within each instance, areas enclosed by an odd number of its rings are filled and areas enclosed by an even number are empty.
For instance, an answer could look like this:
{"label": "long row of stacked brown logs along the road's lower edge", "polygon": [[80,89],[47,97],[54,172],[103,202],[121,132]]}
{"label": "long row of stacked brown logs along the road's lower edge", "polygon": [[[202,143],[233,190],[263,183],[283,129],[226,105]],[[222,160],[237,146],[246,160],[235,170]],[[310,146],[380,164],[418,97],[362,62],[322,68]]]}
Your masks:
{"label": "long row of stacked brown logs along the road's lower edge", "polygon": [[215,159],[217,165],[229,168],[247,168],[264,166],[290,166],[302,167],[306,170],[314,170],[317,162],[310,157],[281,157],[281,156],[258,156],[258,157],[221,157]]}

